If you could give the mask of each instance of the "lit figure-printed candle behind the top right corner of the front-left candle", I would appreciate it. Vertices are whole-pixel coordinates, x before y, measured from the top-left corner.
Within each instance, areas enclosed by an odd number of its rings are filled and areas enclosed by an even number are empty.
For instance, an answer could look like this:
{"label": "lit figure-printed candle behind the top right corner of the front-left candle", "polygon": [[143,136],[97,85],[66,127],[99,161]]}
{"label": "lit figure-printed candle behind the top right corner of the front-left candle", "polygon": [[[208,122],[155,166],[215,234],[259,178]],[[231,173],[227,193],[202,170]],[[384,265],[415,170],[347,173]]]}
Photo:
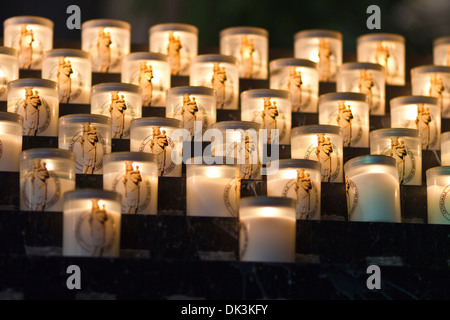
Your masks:
{"label": "lit figure-printed candle behind the top right corner of the front-left candle", "polygon": [[144,152],[113,152],[103,156],[103,188],[122,195],[124,214],[158,212],[158,163]]}

